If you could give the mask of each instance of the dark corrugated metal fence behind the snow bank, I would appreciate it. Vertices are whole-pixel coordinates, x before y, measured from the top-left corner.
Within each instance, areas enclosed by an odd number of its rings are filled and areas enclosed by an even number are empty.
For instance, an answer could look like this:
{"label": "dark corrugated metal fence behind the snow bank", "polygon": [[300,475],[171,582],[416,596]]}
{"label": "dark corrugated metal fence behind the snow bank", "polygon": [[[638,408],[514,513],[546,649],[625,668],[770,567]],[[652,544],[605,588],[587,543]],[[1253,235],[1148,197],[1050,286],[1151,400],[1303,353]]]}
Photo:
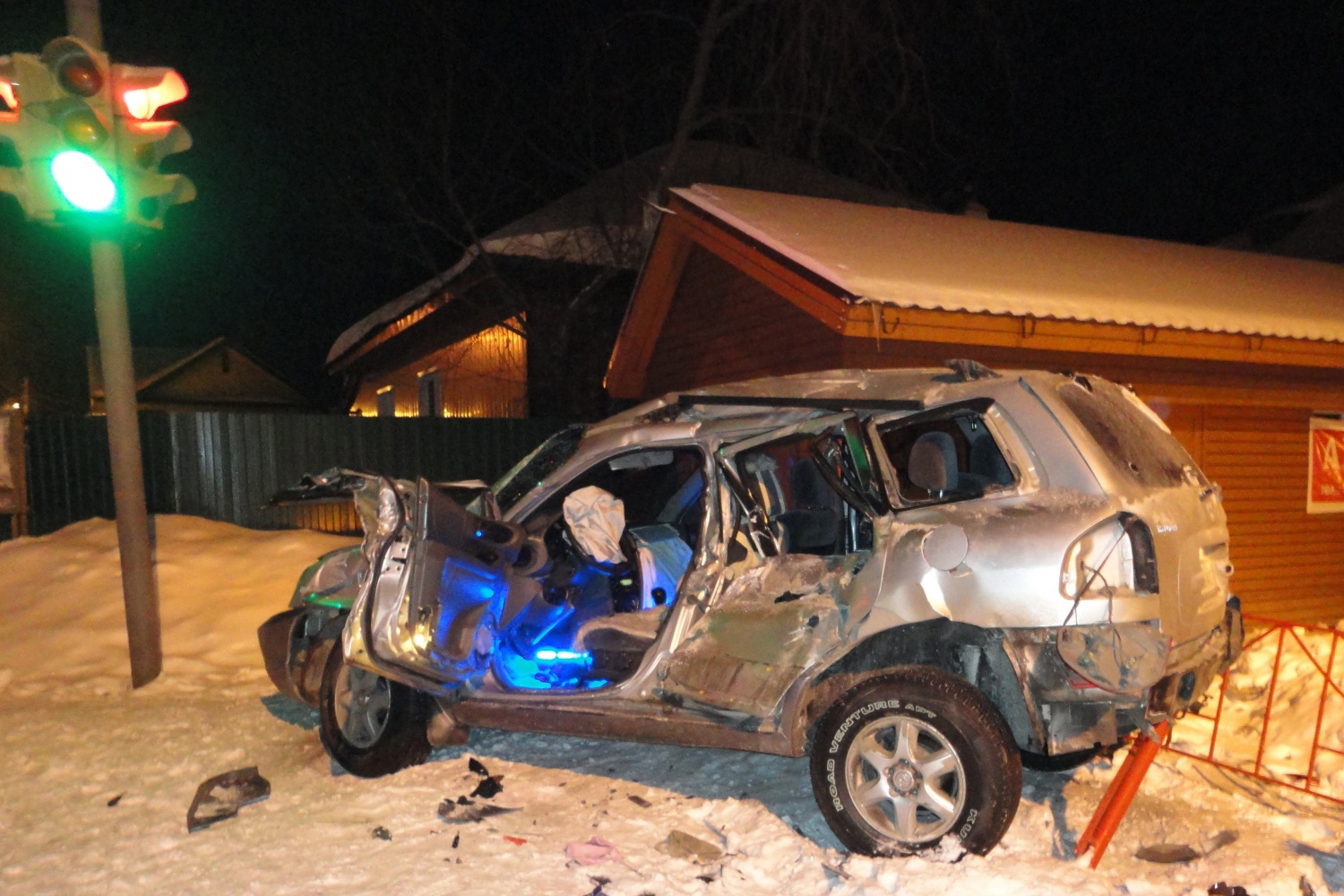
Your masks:
{"label": "dark corrugated metal fence behind the snow bank", "polygon": [[[27,426],[30,533],[113,517],[105,418],[39,416]],[[305,473],[333,466],[491,481],[562,426],[544,419],[142,412],[145,498],[151,513],[257,529],[349,532],[358,523],[348,504],[267,509],[265,502]]]}

